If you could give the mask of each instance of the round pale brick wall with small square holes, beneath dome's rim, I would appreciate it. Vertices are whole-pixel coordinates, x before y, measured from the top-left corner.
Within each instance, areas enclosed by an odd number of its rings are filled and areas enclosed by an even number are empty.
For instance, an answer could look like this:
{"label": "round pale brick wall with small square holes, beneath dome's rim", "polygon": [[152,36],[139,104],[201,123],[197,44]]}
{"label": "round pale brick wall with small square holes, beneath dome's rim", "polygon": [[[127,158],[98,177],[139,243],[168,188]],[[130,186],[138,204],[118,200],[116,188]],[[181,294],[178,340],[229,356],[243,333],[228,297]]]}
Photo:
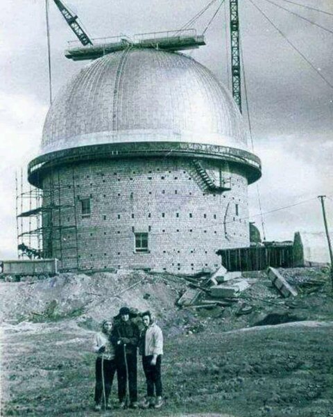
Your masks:
{"label": "round pale brick wall with small square holes, beneath dome's rim", "polygon": [[[248,183],[241,167],[200,163],[216,177],[222,167],[232,189],[207,192],[190,158],[90,161],[54,168],[43,181],[43,204],[60,209],[53,209],[51,218],[44,212],[43,226],[52,231],[44,236],[44,247],[46,238],[51,240],[52,256],[62,259],[64,269],[216,269],[216,250],[249,244]],[[89,217],[81,214],[81,199],[90,199]],[[148,233],[147,253],[135,252],[139,232]]]}

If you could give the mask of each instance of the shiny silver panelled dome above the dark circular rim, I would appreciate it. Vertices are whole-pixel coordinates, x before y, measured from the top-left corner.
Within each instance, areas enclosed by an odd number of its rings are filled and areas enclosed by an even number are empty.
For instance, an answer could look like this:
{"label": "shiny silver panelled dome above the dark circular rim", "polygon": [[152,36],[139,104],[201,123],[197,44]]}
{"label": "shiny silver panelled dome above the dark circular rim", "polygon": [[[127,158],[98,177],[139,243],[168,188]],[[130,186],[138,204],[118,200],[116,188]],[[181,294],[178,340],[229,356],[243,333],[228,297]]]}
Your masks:
{"label": "shiny silver panelled dome above the dark circular rim", "polygon": [[89,63],[53,101],[42,154],[117,142],[195,142],[246,149],[230,93],[188,56],[128,49]]}

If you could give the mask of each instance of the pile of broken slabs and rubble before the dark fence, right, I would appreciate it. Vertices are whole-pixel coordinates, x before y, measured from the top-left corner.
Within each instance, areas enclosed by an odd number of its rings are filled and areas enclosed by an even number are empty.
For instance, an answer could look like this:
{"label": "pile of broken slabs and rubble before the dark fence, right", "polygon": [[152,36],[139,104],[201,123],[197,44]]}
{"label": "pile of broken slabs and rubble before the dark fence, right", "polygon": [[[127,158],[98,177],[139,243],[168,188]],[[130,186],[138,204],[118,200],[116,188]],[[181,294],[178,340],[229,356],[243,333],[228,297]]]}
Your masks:
{"label": "pile of broken slabs and rubble before the dark fence, right", "polygon": [[325,304],[309,295],[327,289],[327,277],[327,268],[228,272],[222,266],[208,277],[187,277],[177,304],[222,331],[321,318]]}

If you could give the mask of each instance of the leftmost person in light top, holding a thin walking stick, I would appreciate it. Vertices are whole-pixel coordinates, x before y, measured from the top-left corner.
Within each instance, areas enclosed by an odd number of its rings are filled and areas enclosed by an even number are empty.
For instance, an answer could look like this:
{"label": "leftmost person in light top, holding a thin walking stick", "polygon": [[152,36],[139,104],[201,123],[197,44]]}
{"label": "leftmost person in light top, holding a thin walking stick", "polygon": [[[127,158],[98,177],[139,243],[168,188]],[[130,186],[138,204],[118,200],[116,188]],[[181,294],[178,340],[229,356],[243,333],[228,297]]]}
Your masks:
{"label": "leftmost person in light top, holding a thin walking stick", "polygon": [[94,335],[93,350],[98,355],[96,359],[96,385],[95,385],[95,411],[101,410],[101,400],[103,406],[110,409],[108,399],[112,388],[114,374],[117,365],[115,361],[114,347],[110,343],[112,322],[103,320],[101,332]]}

